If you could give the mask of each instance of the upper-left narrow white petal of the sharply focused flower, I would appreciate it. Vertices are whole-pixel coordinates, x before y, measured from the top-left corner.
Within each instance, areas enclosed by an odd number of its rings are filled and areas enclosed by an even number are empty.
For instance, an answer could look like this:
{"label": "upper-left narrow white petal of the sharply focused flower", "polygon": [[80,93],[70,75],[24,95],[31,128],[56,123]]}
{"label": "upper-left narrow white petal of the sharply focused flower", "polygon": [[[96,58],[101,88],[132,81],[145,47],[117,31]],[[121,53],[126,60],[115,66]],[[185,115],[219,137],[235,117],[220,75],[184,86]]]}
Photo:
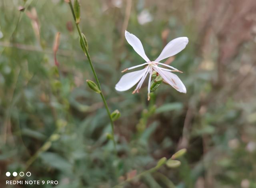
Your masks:
{"label": "upper-left narrow white petal of the sharply focused flower", "polygon": [[125,38],[127,42],[133,47],[133,49],[146,61],[149,62],[150,60],[145,54],[144,48],[140,42],[140,40],[133,34],[125,31]]}

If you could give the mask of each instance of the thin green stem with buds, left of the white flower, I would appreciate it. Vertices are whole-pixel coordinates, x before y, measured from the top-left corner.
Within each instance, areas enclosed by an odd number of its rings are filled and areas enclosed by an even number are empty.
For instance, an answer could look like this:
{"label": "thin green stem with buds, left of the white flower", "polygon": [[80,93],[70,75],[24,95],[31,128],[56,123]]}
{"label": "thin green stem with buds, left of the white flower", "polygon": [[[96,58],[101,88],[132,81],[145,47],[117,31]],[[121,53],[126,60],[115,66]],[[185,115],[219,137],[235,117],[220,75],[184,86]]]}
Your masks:
{"label": "thin green stem with buds, left of the white flower", "polygon": [[[71,9],[71,12],[72,12],[74,21],[76,22],[76,16],[75,16],[75,13],[74,13],[74,8],[73,8],[73,5],[72,5],[71,0],[69,1],[68,4],[69,4],[69,6],[70,6],[70,9]],[[86,47],[86,43],[85,43],[85,41],[84,41],[84,38],[83,38],[83,36],[82,36],[82,33],[81,33],[81,31],[80,31],[80,27],[79,27],[78,23],[76,23],[76,28],[77,28],[78,34],[79,34],[79,36],[80,36],[80,39],[82,39],[82,41],[83,41],[83,42],[82,42],[82,45],[83,45],[83,48],[84,48],[85,55],[86,55],[86,57],[87,57],[87,59],[88,59],[88,61],[89,61],[89,63],[90,63],[90,67],[91,67],[91,69],[92,69],[92,73],[93,73],[93,75],[94,75],[94,78],[95,78],[95,80],[96,80],[96,83],[97,83],[97,85],[98,85],[98,88],[99,88],[100,91],[101,91],[101,92],[100,92],[100,96],[101,96],[101,98],[102,98],[102,101],[103,101],[103,103],[104,103],[105,109],[106,109],[106,111],[107,111],[107,113],[108,113],[108,117],[109,117],[109,119],[110,119],[110,124],[111,124],[111,129],[112,129],[112,136],[113,136],[113,139],[112,139],[112,140],[113,140],[113,142],[114,142],[114,148],[115,148],[115,150],[116,150],[116,141],[115,141],[115,138],[114,138],[114,123],[113,123],[112,118],[111,118],[110,110],[109,110],[109,108],[108,108],[108,104],[107,104],[107,102],[106,102],[106,99],[105,99],[105,97],[104,97],[104,95],[103,95],[103,93],[102,93],[102,89],[101,89],[101,87],[100,87],[100,81],[99,81],[99,79],[98,79],[98,77],[97,77],[97,74],[96,74],[96,71],[95,71],[95,69],[94,69],[94,67],[93,67],[92,60],[91,60],[91,58],[90,58],[88,49],[87,49],[87,47]]]}

